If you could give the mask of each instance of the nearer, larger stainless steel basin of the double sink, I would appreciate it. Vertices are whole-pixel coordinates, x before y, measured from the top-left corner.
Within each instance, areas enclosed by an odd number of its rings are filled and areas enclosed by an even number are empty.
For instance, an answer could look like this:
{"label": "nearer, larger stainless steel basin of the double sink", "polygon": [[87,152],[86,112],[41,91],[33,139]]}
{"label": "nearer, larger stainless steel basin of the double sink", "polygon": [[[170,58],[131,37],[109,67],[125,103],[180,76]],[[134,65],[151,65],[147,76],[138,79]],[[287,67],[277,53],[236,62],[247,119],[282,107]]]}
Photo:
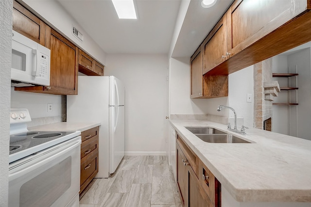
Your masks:
{"label": "nearer, larger stainless steel basin of the double sink", "polygon": [[207,143],[250,143],[230,134],[195,134]]}

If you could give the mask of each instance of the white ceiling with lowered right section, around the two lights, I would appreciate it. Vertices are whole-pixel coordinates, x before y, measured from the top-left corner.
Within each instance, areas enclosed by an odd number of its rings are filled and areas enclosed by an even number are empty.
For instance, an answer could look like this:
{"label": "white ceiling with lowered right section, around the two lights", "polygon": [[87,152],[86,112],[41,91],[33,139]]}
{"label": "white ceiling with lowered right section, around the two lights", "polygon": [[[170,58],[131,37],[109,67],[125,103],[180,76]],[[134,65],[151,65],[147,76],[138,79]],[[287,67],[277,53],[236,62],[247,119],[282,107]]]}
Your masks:
{"label": "white ceiling with lowered right section, around the two lights", "polygon": [[[58,0],[106,53],[168,54],[181,0],[135,0],[138,19],[119,19],[111,0]],[[191,0],[173,57],[190,57],[233,0]]]}

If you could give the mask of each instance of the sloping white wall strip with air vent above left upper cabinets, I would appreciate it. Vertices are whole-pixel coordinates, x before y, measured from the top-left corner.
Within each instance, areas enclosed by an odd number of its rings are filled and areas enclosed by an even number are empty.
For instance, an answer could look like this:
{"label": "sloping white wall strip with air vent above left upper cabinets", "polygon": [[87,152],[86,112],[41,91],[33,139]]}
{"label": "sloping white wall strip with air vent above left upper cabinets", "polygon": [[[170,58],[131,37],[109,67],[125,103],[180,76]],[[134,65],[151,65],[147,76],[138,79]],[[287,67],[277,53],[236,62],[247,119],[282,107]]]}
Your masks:
{"label": "sloping white wall strip with air vent above left upper cabinets", "polygon": [[[106,62],[106,53],[101,49],[94,40],[84,31],[78,22],[76,22],[66,10],[56,0],[23,0],[39,16],[42,16],[58,31],[62,32],[67,38],[74,42],[80,48],[86,50],[91,56],[102,64]],[[72,34],[71,29],[74,25],[84,35],[81,43]]]}

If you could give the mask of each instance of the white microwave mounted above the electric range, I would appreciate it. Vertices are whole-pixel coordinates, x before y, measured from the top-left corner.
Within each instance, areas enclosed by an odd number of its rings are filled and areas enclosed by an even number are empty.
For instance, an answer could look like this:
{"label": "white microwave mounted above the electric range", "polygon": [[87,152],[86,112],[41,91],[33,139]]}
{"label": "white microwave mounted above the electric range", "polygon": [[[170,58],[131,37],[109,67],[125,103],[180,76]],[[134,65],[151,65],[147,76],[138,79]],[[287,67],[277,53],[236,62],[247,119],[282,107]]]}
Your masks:
{"label": "white microwave mounted above the electric range", "polygon": [[12,32],[11,85],[50,85],[51,50]]}

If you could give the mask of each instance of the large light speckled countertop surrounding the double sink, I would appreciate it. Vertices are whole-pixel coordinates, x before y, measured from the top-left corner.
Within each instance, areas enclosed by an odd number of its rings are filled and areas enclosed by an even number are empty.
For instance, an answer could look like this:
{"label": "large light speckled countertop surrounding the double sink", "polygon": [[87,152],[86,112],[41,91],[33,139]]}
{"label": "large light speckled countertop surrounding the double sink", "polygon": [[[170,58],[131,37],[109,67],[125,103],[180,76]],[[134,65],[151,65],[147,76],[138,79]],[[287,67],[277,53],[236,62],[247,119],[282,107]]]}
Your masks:
{"label": "large light speckled countertop surrounding the double sink", "polygon": [[[202,120],[170,120],[238,202],[311,202],[311,141],[257,128],[247,135]],[[209,126],[255,143],[206,143],[187,126]]]}

